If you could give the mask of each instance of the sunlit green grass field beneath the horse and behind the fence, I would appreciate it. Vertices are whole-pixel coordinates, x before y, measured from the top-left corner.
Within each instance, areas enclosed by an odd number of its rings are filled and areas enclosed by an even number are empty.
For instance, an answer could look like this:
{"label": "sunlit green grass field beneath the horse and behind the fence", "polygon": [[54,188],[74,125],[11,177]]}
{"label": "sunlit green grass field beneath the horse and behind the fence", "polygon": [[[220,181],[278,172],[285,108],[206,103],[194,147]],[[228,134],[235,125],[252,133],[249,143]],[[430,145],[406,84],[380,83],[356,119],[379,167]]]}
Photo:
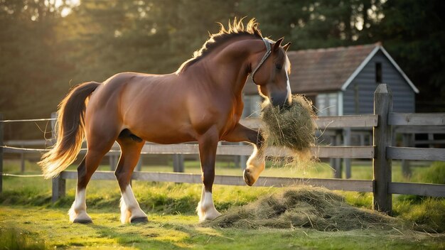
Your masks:
{"label": "sunlit green grass field beneath the horse and behind the fence", "polygon": [[[18,173],[18,169],[17,161],[4,163],[6,173]],[[170,171],[171,167],[145,166],[143,170]],[[186,172],[199,171],[198,163],[186,163]],[[393,180],[437,183],[445,180],[444,172],[444,163],[421,165],[413,167],[412,178],[407,179],[395,163]],[[36,164],[26,163],[26,174],[33,173],[40,173]],[[241,175],[241,170],[220,163],[216,173]],[[274,165],[263,175],[330,178],[332,170],[326,164],[305,169]],[[372,179],[370,163],[354,163],[353,178]],[[135,195],[149,214],[149,223],[122,225],[117,182],[93,180],[87,189],[87,206],[94,224],[82,225],[70,224],[66,214],[74,200],[74,187],[75,180],[68,180],[67,196],[53,204],[50,180],[5,177],[0,195],[0,249],[445,249],[445,199],[394,195],[394,212],[404,226],[392,229],[223,229],[198,223],[194,210],[200,185],[134,181]],[[215,185],[213,192],[215,206],[225,212],[281,190]],[[371,194],[337,193],[351,205],[371,207]]]}

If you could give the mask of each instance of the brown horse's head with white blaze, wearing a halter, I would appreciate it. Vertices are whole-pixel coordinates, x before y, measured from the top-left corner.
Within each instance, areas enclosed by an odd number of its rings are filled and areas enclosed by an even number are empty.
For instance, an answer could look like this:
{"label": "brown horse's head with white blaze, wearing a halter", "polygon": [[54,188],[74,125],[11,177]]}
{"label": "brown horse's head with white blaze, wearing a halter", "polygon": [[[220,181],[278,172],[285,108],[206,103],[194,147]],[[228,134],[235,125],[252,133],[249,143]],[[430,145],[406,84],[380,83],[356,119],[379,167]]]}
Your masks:
{"label": "brown horse's head with white blaze, wearing a halter", "polygon": [[291,104],[289,71],[291,63],[286,51],[291,43],[282,46],[283,38],[273,42],[264,39],[266,53],[252,70],[252,80],[258,85],[259,94],[267,97],[274,106],[286,107]]}

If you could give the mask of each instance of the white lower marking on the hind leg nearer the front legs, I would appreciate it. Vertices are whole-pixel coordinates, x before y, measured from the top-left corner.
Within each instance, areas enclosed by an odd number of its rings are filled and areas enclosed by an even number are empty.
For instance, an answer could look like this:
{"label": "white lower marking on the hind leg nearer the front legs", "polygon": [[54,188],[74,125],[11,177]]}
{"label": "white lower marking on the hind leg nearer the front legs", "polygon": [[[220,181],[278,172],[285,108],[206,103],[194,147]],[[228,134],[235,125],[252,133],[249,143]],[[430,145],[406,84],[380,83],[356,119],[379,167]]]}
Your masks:
{"label": "white lower marking on the hind leg nearer the front legs", "polygon": [[127,185],[125,191],[122,192],[120,207],[122,224],[129,223],[134,218],[147,217],[144,211],[141,210],[141,207],[139,207],[130,185]]}

